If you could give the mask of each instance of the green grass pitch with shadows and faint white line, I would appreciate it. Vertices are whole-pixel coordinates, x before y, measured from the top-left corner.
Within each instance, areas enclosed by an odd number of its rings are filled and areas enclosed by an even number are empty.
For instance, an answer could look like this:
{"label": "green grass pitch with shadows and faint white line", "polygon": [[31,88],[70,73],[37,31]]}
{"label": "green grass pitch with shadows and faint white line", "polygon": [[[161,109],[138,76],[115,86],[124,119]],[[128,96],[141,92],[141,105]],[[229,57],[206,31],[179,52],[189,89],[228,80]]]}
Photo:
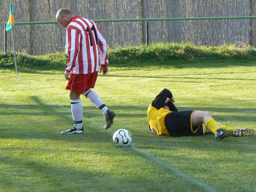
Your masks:
{"label": "green grass pitch with shadows and faint white line", "polygon": [[[13,67],[14,68],[14,67]],[[63,70],[2,69],[0,191],[256,191],[256,136],[150,134],[147,108],[169,88],[179,110],[212,112],[236,128],[256,127],[256,61],[172,61],[110,64],[95,91],[116,113],[104,118],[87,98],[82,135],[73,124]],[[116,147],[113,133],[132,134]]]}

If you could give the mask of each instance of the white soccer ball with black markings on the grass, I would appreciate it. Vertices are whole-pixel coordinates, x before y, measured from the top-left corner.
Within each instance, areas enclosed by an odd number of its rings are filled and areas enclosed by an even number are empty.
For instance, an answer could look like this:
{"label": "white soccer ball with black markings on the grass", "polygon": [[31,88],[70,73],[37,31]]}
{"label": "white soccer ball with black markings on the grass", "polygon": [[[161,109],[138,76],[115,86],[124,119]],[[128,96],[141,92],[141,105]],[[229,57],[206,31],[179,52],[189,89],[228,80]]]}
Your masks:
{"label": "white soccer ball with black markings on the grass", "polygon": [[116,146],[128,146],[132,142],[132,135],[126,129],[118,129],[113,135],[113,142]]}

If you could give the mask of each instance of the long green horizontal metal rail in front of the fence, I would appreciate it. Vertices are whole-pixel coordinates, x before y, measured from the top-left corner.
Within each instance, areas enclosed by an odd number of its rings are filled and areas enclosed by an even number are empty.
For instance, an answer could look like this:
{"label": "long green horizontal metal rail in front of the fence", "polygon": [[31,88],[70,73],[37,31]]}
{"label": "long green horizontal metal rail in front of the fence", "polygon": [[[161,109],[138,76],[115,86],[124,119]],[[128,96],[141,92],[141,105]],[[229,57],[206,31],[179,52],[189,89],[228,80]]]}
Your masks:
{"label": "long green horizontal metal rail in front of the fence", "polygon": [[[106,19],[93,20],[94,22],[123,22],[123,21],[167,21],[167,20],[220,20],[220,19],[256,19],[256,16],[238,16],[238,17],[177,17],[177,18],[141,18],[141,19]],[[57,21],[28,21],[14,22],[15,25],[30,25],[30,24],[54,24]],[[6,23],[7,24],[7,23]]]}

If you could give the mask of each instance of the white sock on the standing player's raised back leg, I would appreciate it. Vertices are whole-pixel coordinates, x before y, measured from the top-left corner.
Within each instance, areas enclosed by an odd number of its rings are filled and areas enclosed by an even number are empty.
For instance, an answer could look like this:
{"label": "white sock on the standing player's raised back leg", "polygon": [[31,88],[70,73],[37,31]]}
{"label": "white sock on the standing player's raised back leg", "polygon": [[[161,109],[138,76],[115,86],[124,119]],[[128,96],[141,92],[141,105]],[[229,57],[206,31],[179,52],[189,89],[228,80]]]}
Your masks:
{"label": "white sock on the standing player's raised back leg", "polygon": [[87,97],[97,108],[99,108],[103,115],[107,114],[107,106],[104,105],[103,101],[100,99],[99,95],[95,91],[89,89],[88,91],[84,92],[83,95]]}

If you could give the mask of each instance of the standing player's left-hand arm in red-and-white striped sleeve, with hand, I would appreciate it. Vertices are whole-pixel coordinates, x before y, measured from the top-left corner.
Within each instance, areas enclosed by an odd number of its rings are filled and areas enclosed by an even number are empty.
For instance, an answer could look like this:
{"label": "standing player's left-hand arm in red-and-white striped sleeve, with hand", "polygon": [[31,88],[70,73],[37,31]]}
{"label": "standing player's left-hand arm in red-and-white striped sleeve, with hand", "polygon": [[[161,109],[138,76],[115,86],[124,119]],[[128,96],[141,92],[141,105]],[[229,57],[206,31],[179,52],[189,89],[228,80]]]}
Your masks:
{"label": "standing player's left-hand arm in red-and-white striped sleeve, with hand", "polygon": [[79,52],[79,44],[80,44],[80,30],[74,28],[73,26],[68,26],[66,31],[66,46],[65,51],[68,56],[68,62],[65,66],[65,78],[69,79],[68,75],[72,68],[75,67],[76,57]]}

